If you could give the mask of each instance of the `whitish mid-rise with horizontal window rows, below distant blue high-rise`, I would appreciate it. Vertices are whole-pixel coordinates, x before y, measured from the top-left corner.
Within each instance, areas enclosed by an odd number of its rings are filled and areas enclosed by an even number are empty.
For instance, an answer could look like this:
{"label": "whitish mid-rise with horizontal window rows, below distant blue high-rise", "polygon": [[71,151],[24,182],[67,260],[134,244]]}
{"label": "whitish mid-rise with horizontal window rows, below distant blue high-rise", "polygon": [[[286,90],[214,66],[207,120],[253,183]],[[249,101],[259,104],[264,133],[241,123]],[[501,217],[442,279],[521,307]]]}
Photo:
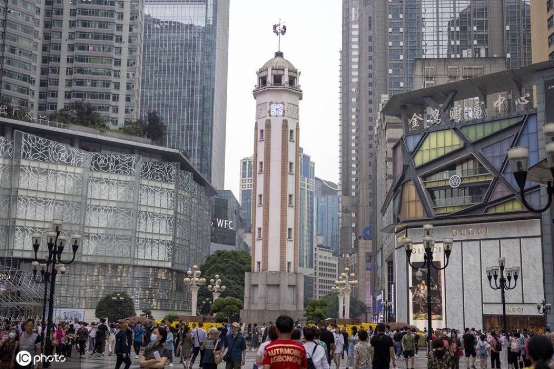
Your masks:
{"label": "whitish mid-rise with horizontal window rows, below distant blue high-rise", "polygon": [[[321,237],[316,239],[321,241]],[[314,298],[322,299],[333,291],[335,280],[338,277],[338,257],[333,254],[333,251],[321,243],[315,247],[315,284]]]}

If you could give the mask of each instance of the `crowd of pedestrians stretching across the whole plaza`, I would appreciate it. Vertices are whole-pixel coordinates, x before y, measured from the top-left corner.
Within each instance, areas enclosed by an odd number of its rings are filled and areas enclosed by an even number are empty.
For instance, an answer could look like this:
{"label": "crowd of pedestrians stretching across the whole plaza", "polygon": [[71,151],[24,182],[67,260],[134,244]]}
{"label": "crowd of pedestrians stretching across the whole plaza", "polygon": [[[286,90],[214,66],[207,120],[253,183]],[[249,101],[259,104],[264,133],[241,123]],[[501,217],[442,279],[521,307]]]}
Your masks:
{"label": "crowd of pedestrians stretching across the whole plaza", "polygon": [[[385,369],[396,367],[399,360],[413,369],[418,350],[423,350],[419,355],[427,356],[429,369],[477,369],[476,365],[488,369],[489,363],[494,369],[554,369],[554,334],[550,330],[533,335],[526,329],[441,329],[429,337],[427,330],[390,330],[380,323],[375,331],[353,327],[348,334],[345,327],[329,325],[325,320],[301,326],[283,315],[275,324],[244,327],[232,323],[229,332],[225,324],[206,331],[202,323],[193,323],[191,329],[183,321],[177,325],[163,320],[146,325],[129,320],[107,325],[104,319],[90,324],[61,322],[53,327],[50,337],[52,354],[70,359],[73,346],[79,358],[114,354],[116,369],[129,369],[133,353],[141,368],[172,368],[178,360],[184,369],[217,369],[222,361],[225,369],[240,369],[247,350],[256,351],[254,369]],[[20,350],[40,355],[43,339],[42,326],[33,320],[4,321],[0,369],[17,368],[14,360]],[[423,345],[426,340],[432,342],[430,352]]]}

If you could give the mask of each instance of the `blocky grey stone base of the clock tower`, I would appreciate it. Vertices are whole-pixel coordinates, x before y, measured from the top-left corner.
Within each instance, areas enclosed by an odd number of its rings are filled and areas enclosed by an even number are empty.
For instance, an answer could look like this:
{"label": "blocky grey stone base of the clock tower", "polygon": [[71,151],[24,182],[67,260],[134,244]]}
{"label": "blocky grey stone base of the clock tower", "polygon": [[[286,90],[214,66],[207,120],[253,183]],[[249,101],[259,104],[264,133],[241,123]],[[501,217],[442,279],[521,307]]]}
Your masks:
{"label": "blocky grey stone base of the clock tower", "polygon": [[294,320],[304,316],[304,274],[255,272],[244,276],[243,323],[259,325],[275,321],[279,315]]}

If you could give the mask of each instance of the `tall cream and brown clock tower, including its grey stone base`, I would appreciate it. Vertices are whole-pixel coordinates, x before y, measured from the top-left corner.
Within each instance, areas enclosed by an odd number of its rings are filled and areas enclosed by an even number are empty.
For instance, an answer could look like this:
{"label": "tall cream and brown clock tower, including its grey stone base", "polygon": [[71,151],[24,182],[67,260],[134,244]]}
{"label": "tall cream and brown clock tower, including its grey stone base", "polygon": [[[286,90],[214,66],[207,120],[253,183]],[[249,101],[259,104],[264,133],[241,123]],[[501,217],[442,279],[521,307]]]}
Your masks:
{"label": "tall cream and brown clock tower, including its grey stone base", "polygon": [[257,72],[252,191],[252,272],[244,280],[243,321],[304,314],[298,272],[300,72],[281,51]]}

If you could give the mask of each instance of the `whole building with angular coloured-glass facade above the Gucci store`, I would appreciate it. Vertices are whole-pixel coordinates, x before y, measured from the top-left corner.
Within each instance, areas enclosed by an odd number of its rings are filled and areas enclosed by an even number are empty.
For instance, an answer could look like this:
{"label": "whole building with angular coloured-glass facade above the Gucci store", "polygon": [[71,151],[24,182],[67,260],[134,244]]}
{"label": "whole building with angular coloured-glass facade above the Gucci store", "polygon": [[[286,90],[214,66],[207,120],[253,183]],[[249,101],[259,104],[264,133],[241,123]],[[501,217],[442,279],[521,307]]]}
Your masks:
{"label": "whole building with angular coloured-glass facade above the Gucci store", "polygon": [[[554,302],[554,227],[551,212],[536,214],[527,207],[545,206],[546,186],[540,184],[552,180],[542,164],[542,127],[554,121],[548,100],[553,75],[554,61],[546,61],[394,95],[382,109],[385,119],[402,122],[395,126],[401,127],[400,138],[391,143],[392,184],[379,229],[395,236],[379,235],[391,240],[382,247],[394,273],[382,279],[388,296],[394,286],[397,321],[427,325],[430,273],[435,327],[496,328],[503,313],[509,329],[545,327],[536,304]],[[513,147],[529,150],[531,169],[523,190],[527,205],[507,159]],[[541,165],[546,176],[538,170]],[[434,226],[437,268],[429,271],[422,245],[425,224]],[[404,251],[406,237],[413,238],[413,267]],[[454,241],[447,267],[443,238]],[[506,268],[520,270],[515,288],[506,291],[505,311],[500,291],[490,287],[486,275],[486,268],[499,266],[500,257]],[[547,318],[551,323],[554,313]]]}

